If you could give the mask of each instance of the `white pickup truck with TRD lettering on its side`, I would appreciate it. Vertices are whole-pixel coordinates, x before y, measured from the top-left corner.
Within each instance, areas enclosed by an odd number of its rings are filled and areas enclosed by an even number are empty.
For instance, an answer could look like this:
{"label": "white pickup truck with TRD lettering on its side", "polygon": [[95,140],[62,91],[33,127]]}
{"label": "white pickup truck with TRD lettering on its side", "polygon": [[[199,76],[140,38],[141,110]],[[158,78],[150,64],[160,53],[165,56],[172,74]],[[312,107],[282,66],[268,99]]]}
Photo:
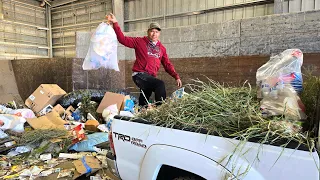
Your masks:
{"label": "white pickup truck with TRD lettering on its side", "polygon": [[319,180],[318,153],[297,144],[239,143],[119,117],[109,141],[108,165],[123,180]]}

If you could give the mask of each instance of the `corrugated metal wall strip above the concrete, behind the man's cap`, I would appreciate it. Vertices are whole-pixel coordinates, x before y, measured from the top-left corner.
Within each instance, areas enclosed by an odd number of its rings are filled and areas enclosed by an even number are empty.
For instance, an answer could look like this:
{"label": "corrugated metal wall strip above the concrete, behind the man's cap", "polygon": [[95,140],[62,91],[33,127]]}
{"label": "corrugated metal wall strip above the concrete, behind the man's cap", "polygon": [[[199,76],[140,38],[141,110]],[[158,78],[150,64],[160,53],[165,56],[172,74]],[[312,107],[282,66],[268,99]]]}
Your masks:
{"label": "corrugated metal wall strip above the concrete, behind the man's cap", "polygon": [[151,21],[177,27],[264,16],[273,9],[265,0],[125,0],[125,31],[145,30]]}

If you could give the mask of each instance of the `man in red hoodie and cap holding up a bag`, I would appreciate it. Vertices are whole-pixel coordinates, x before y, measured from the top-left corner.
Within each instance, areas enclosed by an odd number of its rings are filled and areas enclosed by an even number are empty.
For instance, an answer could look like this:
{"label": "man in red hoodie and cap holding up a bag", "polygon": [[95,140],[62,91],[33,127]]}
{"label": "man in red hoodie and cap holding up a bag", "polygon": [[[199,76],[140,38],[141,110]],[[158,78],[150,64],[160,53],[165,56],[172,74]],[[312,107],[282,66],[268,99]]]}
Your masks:
{"label": "man in red hoodie and cap holding up a bag", "polygon": [[156,78],[160,63],[165,71],[176,79],[178,87],[182,86],[179,75],[169,61],[166,48],[159,41],[160,25],[151,23],[148,27],[148,36],[127,37],[123,35],[113,14],[110,13],[107,19],[113,23],[113,29],[117,34],[118,41],[124,46],[135,50],[136,61],[132,67],[132,79],[142,92],[139,97],[139,105],[147,105],[147,100],[149,101],[152,92],[155,93],[156,104],[160,105],[161,101],[166,98],[164,82]]}

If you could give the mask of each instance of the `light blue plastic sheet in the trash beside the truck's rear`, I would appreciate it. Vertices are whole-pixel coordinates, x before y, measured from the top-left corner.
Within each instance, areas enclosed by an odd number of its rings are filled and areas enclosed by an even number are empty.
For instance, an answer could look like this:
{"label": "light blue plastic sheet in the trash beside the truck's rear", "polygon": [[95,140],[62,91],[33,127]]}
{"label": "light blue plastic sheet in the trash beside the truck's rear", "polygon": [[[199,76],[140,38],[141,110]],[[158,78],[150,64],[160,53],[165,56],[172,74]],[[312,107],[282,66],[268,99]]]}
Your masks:
{"label": "light blue plastic sheet in the trash beside the truck's rear", "polygon": [[97,132],[87,135],[87,139],[70,147],[70,150],[78,152],[93,152],[94,146],[102,142],[108,141],[108,133]]}

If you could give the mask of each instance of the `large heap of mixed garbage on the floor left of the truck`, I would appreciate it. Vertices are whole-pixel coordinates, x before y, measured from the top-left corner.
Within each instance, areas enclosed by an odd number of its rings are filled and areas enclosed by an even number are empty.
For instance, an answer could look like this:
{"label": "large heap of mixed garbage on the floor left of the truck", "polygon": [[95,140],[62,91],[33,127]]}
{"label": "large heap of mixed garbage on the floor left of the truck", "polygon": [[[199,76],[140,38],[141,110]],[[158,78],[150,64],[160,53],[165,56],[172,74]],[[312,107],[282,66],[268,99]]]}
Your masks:
{"label": "large heap of mixed garbage on the floor left of the truck", "polygon": [[41,84],[25,105],[0,105],[0,179],[111,179],[103,173],[109,120],[133,116],[134,101],[124,90],[67,94]]}

